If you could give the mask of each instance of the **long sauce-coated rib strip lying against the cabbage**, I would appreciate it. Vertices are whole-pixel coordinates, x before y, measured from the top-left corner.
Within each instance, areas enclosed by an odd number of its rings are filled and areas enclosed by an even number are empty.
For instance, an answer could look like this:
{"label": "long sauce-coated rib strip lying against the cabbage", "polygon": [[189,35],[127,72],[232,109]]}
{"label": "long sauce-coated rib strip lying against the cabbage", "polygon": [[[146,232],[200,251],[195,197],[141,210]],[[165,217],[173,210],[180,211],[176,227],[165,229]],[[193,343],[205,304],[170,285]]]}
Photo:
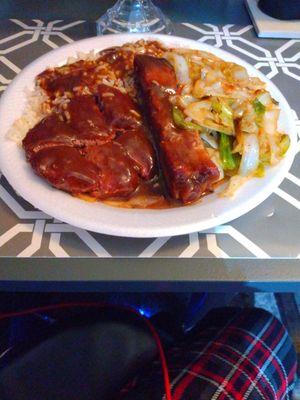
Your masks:
{"label": "long sauce-coated rib strip lying against the cabbage", "polygon": [[176,89],[176,75],[163,58],[136,55],[135,74],[153,127],[163,177],[172,198],[197,201],[211,190],[219,177],[198,132],[177,129],[173,124],[169,93]]}

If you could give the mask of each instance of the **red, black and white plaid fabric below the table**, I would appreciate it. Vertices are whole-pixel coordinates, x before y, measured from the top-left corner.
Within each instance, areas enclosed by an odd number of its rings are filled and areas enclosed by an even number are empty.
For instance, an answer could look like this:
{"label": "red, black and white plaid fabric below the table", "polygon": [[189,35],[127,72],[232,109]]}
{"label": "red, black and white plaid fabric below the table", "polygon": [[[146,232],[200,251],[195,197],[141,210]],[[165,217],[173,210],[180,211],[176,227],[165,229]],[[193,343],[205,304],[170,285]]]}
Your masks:
{"label": "red, black and white plaid fabric below the table", "polygon": [[[168,354],[173,400],[288,400],[296,353],[283,325],[261,309],[210,312]],[[126,400],[163,399],[160,365]]]}

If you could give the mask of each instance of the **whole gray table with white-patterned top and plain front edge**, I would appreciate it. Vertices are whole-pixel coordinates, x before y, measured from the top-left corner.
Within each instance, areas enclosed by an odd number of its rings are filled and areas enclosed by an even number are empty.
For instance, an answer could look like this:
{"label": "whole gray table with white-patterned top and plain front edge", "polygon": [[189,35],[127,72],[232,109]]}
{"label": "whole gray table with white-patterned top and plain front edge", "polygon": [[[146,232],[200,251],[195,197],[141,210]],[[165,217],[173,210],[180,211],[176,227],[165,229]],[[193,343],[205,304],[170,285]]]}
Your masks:
{"label": "whole gray table with white-patterned top and plain front edge", "polygon": [[[251,25],[176,23],[175,34],[245,59],[300,114],[300,41],[258,39]],[[3,20],[0,90],[27,64],[93,36],[83,20]],[[87,232],[35,210],[0,180],[0,288],[39,290],[293,290],[300,284],[300,155],[281,186],[230,224],[177,237]]]}

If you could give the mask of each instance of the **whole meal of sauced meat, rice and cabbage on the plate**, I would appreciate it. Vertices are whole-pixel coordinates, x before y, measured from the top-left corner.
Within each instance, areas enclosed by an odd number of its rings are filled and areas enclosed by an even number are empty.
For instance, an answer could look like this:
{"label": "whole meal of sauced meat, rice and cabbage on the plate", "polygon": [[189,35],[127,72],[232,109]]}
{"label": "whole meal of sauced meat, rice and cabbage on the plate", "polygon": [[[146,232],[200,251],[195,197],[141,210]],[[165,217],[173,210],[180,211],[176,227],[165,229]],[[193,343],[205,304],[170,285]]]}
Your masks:
{"label": "whole meal of sauced meat, rice and cabbage on the plate", "polygon": [[43,71],[9,134],[57,189],[167,208],[264,176],[289,148],[279,114],[244,67],[140,40]]}

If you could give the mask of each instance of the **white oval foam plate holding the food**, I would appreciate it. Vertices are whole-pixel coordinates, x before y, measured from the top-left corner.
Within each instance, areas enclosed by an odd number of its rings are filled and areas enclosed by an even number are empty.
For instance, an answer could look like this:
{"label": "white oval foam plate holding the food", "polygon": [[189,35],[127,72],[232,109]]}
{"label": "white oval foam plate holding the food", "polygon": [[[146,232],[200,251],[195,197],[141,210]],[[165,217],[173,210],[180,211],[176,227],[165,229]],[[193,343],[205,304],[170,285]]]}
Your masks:
{"label": "white oval foam plate holding the food", "polygon": [[[248,181],[233,199],[211,194],[187,207],[166,210],[114,208],[90,203],[52,188],[35,175],[24,151],[7,137],[16,118],[22,115],[26,89],[33,88],[35,77],[49,66],[63,64],[78,51],[102,50],[138,39],[155,39],[167,46],[209,51],[226,61],[244,66],[251,76],[267,83],[281,108],[279,127],[290,135],[291,146],[284,159],[270,168],[264,178]],[[165,35],[122,34],[93,37],[50,51],[28,65],[9,85],[0,101],[0,168],[12,187],[24,199],[45,213],[69,224],[94,232],[127,237],[156,237],[201,231],[227,223],[263,202],[281,183],[295,154],[296,131],[291,109],[282,93],[262,73],[240,58],[223,50],[189,39]]]}

